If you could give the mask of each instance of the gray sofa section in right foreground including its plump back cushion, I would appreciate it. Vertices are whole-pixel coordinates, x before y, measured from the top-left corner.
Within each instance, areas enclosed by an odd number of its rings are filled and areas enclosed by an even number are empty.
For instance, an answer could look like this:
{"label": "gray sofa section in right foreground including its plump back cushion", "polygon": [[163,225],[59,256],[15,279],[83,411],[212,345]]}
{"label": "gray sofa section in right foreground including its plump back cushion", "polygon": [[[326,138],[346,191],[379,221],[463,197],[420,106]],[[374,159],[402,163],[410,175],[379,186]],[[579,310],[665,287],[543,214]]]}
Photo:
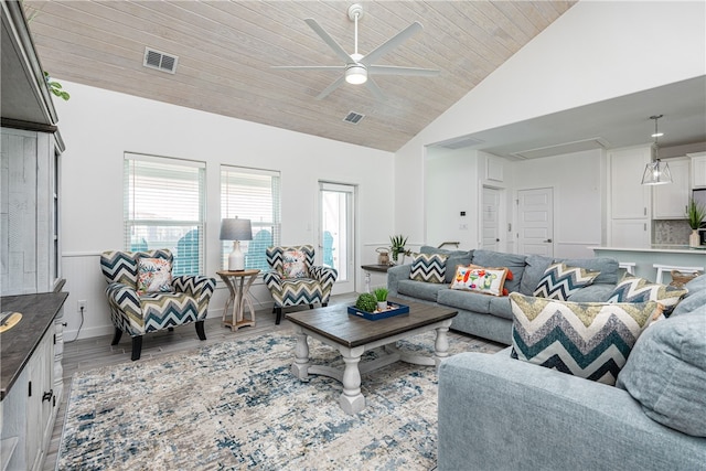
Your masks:
{"label": "gray sofa section in right foreground including its plump back cushion", "polygon": [[616,386],[513,360],[511,347],[445,360],[438,470],[706,469],[706,275],[686,288]]}

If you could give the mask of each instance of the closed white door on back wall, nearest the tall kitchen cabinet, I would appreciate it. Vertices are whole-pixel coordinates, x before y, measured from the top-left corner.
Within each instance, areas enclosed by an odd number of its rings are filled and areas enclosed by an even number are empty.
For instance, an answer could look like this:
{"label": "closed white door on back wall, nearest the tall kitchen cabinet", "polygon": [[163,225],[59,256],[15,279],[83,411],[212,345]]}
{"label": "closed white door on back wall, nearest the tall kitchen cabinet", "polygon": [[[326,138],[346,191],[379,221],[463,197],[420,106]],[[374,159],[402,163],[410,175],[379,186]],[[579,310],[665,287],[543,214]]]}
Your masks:
{"label": "closed white door on back wall, nearest the tall kitchen cabinet", "polygon": [[554,256],[553,189],[517,192],[517,253]]}

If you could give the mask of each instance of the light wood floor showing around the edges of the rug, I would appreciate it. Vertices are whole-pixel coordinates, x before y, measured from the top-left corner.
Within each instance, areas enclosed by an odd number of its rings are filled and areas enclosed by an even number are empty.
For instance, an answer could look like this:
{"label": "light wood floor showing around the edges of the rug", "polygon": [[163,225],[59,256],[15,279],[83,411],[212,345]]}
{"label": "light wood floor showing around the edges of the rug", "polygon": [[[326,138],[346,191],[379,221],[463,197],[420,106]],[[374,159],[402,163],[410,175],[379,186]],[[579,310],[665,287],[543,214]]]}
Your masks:
{"label": "light wood floor showing around the edges of the rug", "polygon": [[[355,302],[355,297],[356,295],[334,296],[331,298],[330,303],[353,303]],[[286,312],[292,312],[296,309],[308,308],[289,308]],[[175,352],[194,350],[200,346],[215,344],[235,338],[247,339],[292,329],[292,324],[287,320],[282,320],[279,325],[275,325],[275,314],[272,314],[271,311],[257,311],[255,319],[257,327],[242,328],[236,332],[231,332],[231,329],[221,327],[221,319],[206,319],[205,332],[207,340],[205,341],[199,340],[194,325],[191,324],[174,328],[173,332],[154,332],[145,336],[142,341],[142,355],[139,361],[159,358]],[[71,392],[71,382],[74,373],[131,361],[130,336],[122,335],[120,343],[115,346],[110,345],[111,340],[113,335],[104,335],[82,339],[64,344],[64,360],[62,363],[64,366],[64,393],[58,406],[50,449],[44,461],[44,471],[52,471],[56,468],[58,445],[64,427],[64,415],[66,414],[66,398]],[[483,339],[478,339],[478,341],[481,344],[488,344],[489,347],[493,350],[500,351],[504,347],[504,345]]]}

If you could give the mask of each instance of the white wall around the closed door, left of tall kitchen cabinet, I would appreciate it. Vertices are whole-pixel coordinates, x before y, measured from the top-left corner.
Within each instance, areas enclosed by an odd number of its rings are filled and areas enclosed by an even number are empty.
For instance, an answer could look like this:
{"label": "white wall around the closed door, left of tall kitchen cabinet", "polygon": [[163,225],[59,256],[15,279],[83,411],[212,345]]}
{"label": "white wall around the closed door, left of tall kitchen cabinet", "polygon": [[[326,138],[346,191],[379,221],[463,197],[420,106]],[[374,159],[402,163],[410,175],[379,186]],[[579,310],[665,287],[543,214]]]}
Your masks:
{"label": "white wall around the closed door, left of tall kitchen cabinet", "polygon": [[[605,162],[605,151],[589,150],[510,165],[513,201],[518,190],[553,189],[555,257],[590,258],[593,251],[587,247],[601,245]],[[517,227],[516,216],[513,227]]]}

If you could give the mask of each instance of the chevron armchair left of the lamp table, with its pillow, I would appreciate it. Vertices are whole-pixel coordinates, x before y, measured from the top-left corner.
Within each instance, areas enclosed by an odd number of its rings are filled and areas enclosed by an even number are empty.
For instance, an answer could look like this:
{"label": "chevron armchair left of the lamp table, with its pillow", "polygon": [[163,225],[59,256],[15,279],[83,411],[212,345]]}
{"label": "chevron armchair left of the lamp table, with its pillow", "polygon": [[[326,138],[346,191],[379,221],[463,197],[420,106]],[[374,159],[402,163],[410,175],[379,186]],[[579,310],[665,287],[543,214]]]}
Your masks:
{"label": "chevron armchair left of the lamp table, with its pillow", "polygon": [[111,345],[127,332],[132,338],[132,360],[139,360],[142,335],[195,322],[199,339],[206,340],[203,321],[216,286],[204,276],[171,276],[174,263],[168,249],[104,251],[100,269],[108,282],[106,297],[115,325]]}

